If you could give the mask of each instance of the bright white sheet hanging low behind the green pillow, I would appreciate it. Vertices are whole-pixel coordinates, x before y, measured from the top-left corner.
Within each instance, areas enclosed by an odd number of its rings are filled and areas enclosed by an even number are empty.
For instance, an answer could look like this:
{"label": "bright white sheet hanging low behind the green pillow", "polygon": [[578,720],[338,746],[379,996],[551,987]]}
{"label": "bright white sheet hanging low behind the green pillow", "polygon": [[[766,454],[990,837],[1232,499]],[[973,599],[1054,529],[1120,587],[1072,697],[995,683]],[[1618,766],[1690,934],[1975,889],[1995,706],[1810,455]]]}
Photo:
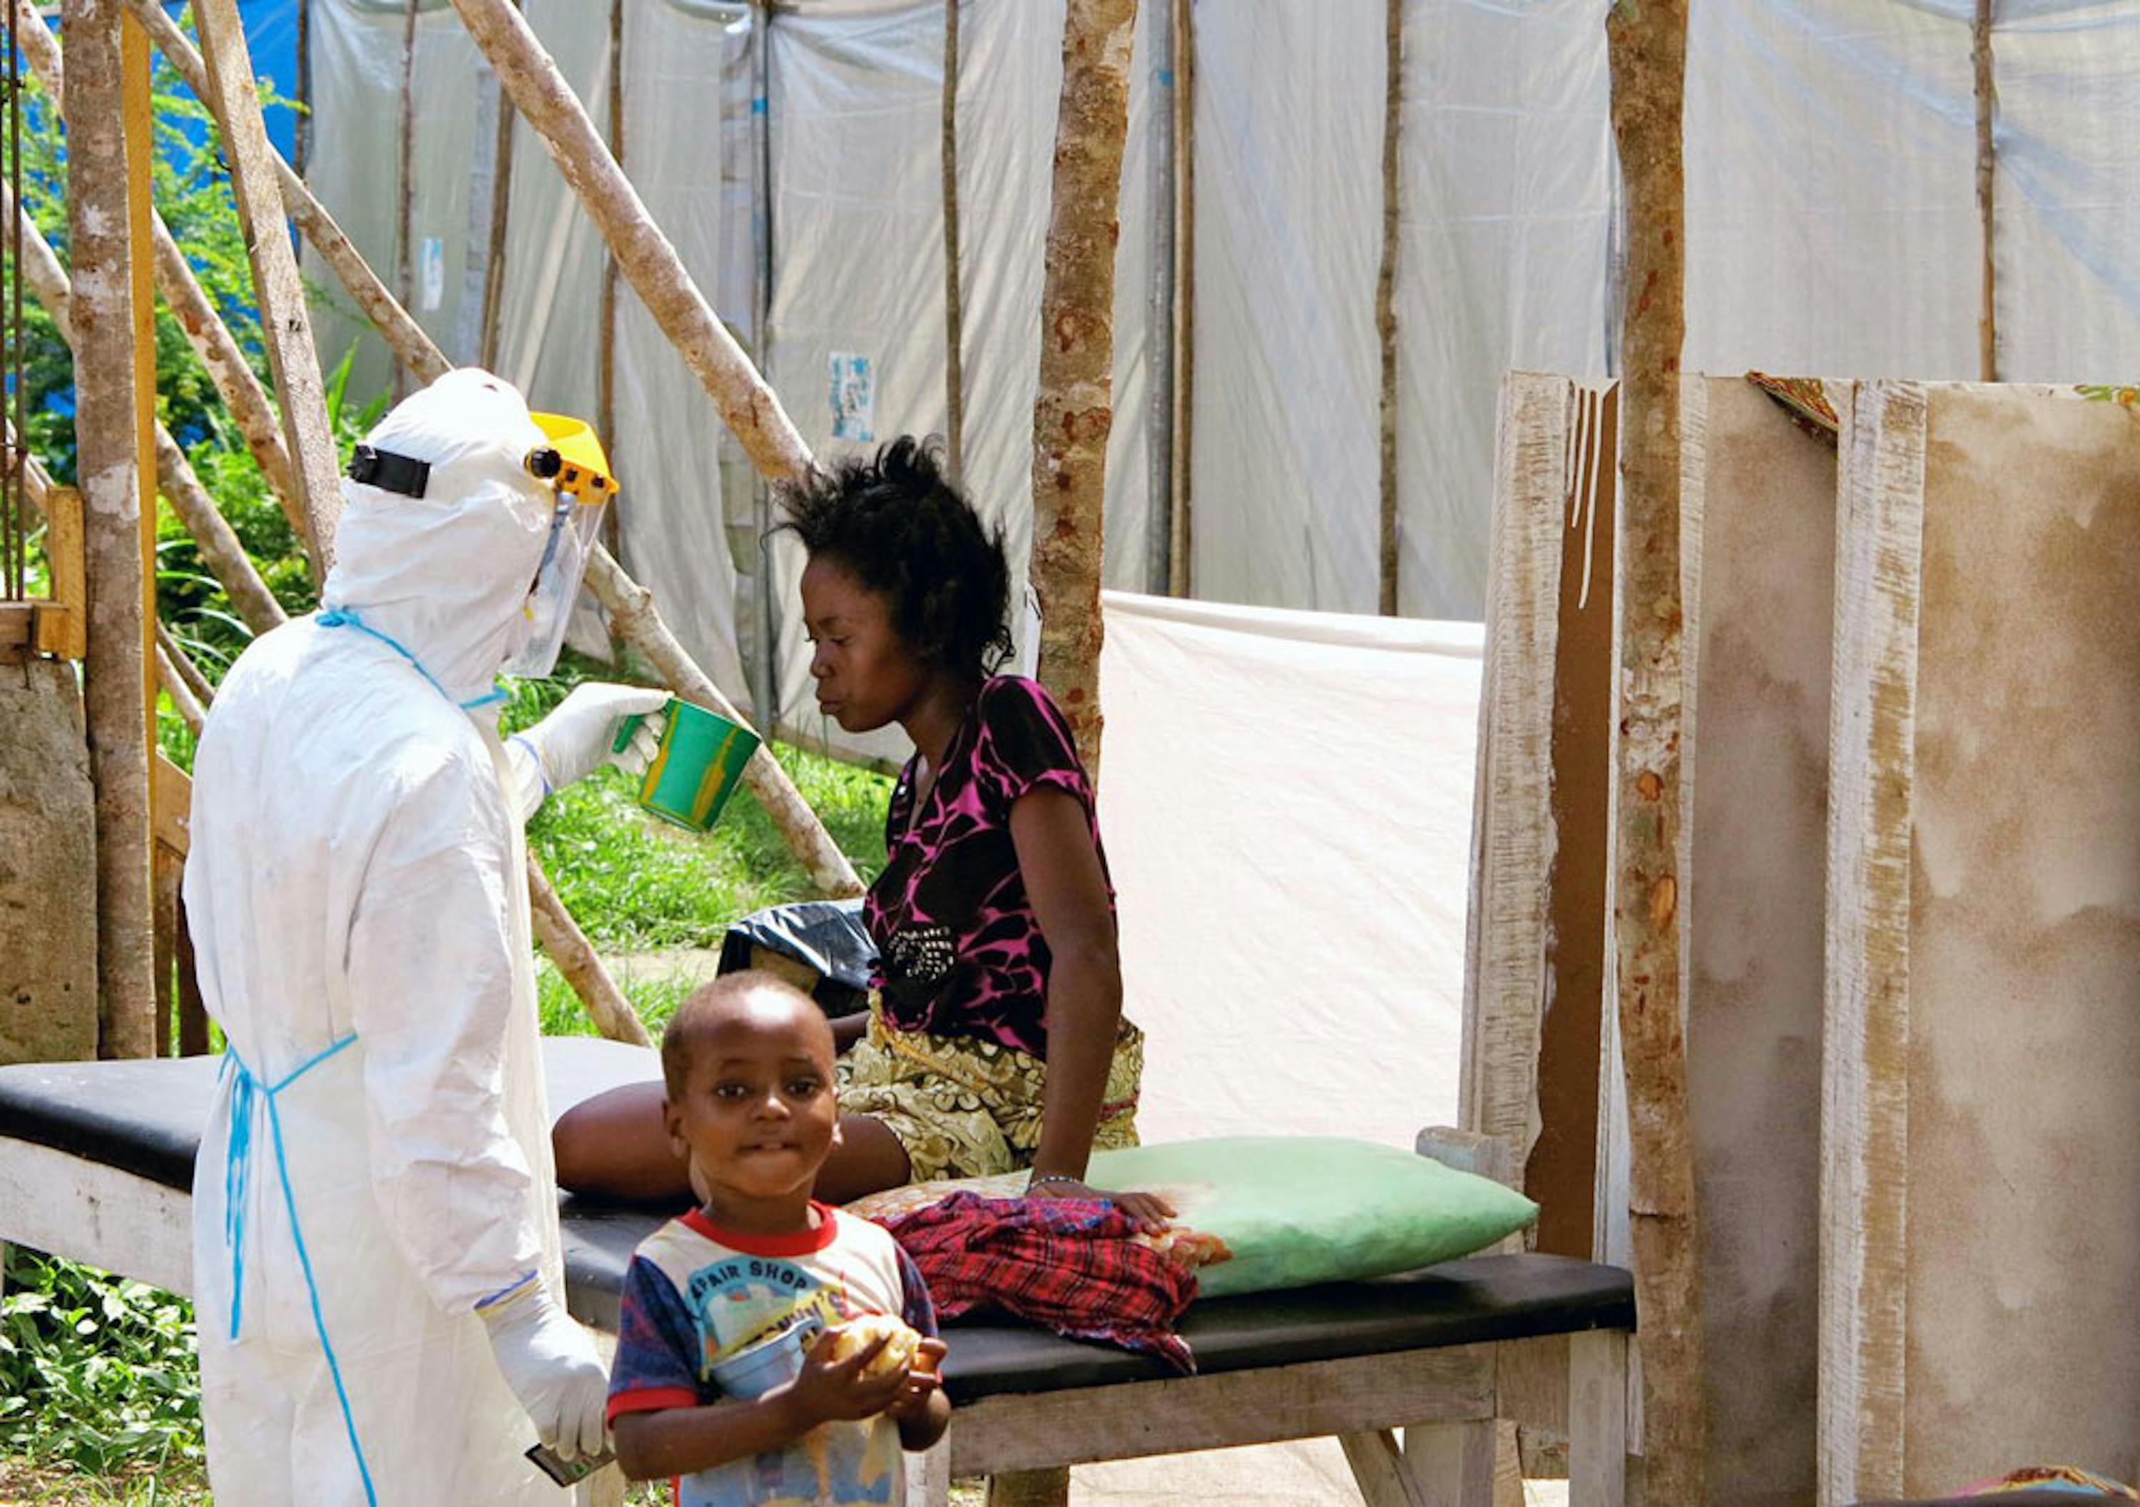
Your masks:
{"label": "bright white sheet hanging low behind the green pillow", "polygon": [[1106,597],[1147,1139],[1453,1124],[1481,627]]}

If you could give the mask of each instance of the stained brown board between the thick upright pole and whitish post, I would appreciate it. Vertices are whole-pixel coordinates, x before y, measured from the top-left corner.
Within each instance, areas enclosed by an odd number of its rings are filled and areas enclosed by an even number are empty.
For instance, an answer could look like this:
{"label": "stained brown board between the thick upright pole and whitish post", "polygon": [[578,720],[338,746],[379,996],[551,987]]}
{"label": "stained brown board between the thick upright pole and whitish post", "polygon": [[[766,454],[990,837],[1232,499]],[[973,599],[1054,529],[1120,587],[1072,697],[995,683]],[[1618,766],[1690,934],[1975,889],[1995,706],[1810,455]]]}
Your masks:
{"label": "stained brown board between the thick upright pole and whitish post", "polygon": [[1682,398],[1686,1038],[1708,1490],[1815,1494],[1836,445],[1740,377]]}

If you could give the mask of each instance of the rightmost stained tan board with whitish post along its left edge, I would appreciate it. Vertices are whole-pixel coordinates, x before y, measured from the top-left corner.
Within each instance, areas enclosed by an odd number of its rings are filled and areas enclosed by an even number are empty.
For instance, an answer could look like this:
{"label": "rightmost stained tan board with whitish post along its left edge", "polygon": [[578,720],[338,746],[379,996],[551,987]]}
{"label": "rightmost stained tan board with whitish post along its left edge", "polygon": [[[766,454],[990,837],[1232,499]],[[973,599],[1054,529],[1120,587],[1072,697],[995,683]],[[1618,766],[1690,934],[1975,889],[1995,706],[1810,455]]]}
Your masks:
{"label": "rightmost stained tan board with whitish post along its left edge", "polygon": [[1868,383],[1830,824],[1823,1501],[2140,1475],[2140,426]]}

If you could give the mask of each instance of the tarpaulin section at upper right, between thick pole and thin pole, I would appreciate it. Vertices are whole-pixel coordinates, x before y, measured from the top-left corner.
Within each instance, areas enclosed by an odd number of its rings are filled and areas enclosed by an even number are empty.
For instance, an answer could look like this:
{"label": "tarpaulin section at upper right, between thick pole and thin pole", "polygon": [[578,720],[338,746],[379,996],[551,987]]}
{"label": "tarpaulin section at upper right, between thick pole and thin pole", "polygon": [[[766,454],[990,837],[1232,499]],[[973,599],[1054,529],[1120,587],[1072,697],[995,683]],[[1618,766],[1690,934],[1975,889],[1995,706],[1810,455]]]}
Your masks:
{"label": "tarpaulin section at upper right, between thick pole and thin pole", "polygon": [[1971,13],[1693,9],[1682,370],[1975,370]]}

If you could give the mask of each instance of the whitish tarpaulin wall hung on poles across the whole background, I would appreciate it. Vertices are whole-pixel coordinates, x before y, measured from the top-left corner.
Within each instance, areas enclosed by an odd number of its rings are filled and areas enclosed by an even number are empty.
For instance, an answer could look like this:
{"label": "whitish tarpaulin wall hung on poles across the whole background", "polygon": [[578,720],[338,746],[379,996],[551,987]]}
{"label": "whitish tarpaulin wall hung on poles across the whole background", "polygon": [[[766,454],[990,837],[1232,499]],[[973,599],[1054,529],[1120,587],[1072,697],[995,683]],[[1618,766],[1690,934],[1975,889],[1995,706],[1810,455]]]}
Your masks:
{"label": "whitish tarpaulin wall hung on poles across the whole background", "polygon": [[[488,171],[479,116],[494,86],[443,0],[424,4],[413,244],[419,263],[430,242],[437,250],[413,287],[417,315],[467,360],[464,283],[482,272],[488,223],[488,193],[471,203],[471,184]],[[606,6],[526,9],[601,120]],[[1166,9],[1141,6],[1121,191],[1106,578],[1124,589],[1153,584],[1149,524],[1177,439],[1147,381],[1153,353],[1173,347],[1171,325],[1153,321],[1164,304],[1151,276],[1171,203]],[[310,176],[387,268],[400,11],[400,0],[317,0],[312,43]],[[1618,199],[1603,11],[1601,0],[1408,4],[1406,614],[1481,610],[1500,372],[1611,368]],[[1194,6],[1194,351],[1173,355],[1194,366],[1190,578],[1205,599],[1350,612],[1376,602],[1382,17],[1378,0]],[[1688,370],[1980,375],[1971,17],[1973,0],[1697,0]],[[751,11],[717,0],[625,6],[627,169],[700,287],[762,345],[760,364],[813,447],[942,432],[942,0],[783,4],[762,58],[753,26]],[[1023,569],[1061,4],[965,0],[961,30],[965,467]],[[2140,4],[2003,2],[1992,51],[1999,375],[2129,377],[2140,152],[2125,122],[2140,103]],[[546,405],[591,409],[599,246],[524,126],[511,184],[499,364]],[[766,231],[755,246],[753,216]],[[629,289],[621,304],[627,563],[743,696],[760,642],[745,584],[758,576],[753,484]],[[353,336],[349,321],[321,321],[330,357]],[[835,353],[850,377],[843,417]],[[364,372],[383,377],[377,351]],[[800,721],[809,698],[790,595],[781,565],[773,679],[783,719]]]}

